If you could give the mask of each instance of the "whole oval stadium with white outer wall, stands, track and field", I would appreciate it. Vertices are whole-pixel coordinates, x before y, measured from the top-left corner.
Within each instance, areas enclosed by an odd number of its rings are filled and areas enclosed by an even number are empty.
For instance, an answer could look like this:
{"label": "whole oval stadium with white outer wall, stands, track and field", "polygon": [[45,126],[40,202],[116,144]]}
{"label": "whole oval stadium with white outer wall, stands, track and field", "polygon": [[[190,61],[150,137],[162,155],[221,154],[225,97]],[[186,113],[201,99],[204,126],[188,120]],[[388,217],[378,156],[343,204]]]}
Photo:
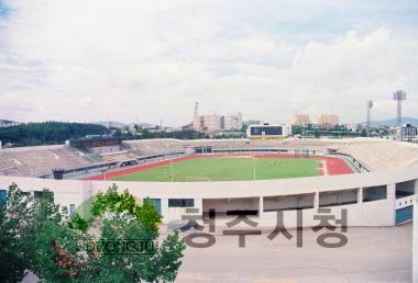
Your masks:
{"label": "whole oval stadium with white outer wall, stands, track and field", "polygon": [[[0,149],[0,194],[16,183],[89,217],[99,191],[116,183],[151,197],[163,223],[188,208],[217,225],[244,215],[258,227],[318,222],[319,208],[348,213],[348,226],[394,226],[413,218],[418,146],[388,139],[139,139],[92,137],[65,145]],[[196,213],[197,212],[197,213]],[[246,225],[240,223],[240,225]]]}

